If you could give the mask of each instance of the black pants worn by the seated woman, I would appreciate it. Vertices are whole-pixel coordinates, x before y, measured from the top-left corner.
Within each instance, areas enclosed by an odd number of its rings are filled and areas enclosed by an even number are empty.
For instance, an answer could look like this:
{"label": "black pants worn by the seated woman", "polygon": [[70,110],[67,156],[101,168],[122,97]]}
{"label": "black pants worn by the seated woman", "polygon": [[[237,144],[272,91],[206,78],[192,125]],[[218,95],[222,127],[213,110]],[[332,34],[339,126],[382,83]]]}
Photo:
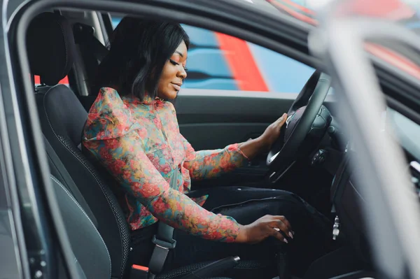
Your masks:
{"label": "black pants worn by the seated woman", "polygon": [[[307,270],[311,262],[331,249],[332,224],[295,194],[276,189],[215,187],[196,190],[190,192],[188,196],[204,194],[209,194],[204,208],[214,213],[234,217],[239,224],[250,224],[267,214],[284,215],[295,231],[294,239],[288,244],[276,238],[267,238],[266,241],[254,245],[222,243],[204,240],[176,229],[174,231],[176,248],[169,253],[165,270],[229,256],[239,256],[242,260],[264,262],[274,269],[267,267],[262,267],[261,270],[252,269],[237,277],[272,278],[273,275],[275,276],[272,273],[276,270],[274,255],[277,250],[286,248],[290,270],[299,276]],[[154,247],[151,237],[155,229],[156,226],[153,225],[133,232],[132,262],[148,265]]]}

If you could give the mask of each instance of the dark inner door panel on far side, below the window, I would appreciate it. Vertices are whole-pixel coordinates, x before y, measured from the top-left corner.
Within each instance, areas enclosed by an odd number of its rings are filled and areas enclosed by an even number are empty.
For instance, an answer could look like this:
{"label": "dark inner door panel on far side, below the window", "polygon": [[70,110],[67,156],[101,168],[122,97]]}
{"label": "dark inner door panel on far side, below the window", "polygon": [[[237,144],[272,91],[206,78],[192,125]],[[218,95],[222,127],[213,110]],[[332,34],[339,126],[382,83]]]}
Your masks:
{"label": "dark inner door panel on far side, below the window", "polygon": [[[181,134],[195,150],[224,148],[257,138],[267,126],[288,111],[295,93],[241,92],[230,90],[181,90],[174,101]],[[332,108],[333,96],[325,106]],[[222,178],[193,185],[248,185],[264,187],[268,173],[263,154]]]}

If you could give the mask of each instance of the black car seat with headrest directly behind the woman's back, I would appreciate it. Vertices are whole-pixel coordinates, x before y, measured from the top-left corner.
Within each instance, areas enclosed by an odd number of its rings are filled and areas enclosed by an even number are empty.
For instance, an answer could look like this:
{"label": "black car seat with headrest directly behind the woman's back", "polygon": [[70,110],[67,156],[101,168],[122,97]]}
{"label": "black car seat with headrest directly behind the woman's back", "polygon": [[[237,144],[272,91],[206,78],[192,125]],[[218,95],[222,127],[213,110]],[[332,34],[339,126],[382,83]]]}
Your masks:
{"label": "black car seat with headrest directly behind the woman's back", "polygon": [[[81,134],[87,119],[86,110],[69,87],[57,85],[73,65],[74,39],[69,22],[57,13],[42,13],[35,17],[27,31],[27,52],[31,72],[40,76],[41,83],[45,84],[36,90],[36,105],[43,134],[51,146],[47,152],[50,169],[54,169],[53,181],[60,189],[66,187],[77,207],[83,210],[83,215],[92,221],[99,236],[103,238],[110,257],[111,278],[125,278],[130,231],[123,210],[105,182],[108,180],[103,179],[106,174],[97,171],[80,150]],[[67,192],[64,194],[67,195]],[[92,234],[96,234],[94,228],[90,228]],[[73,229],[71,233],[77,235],[78,231]],[[94,250],[90,246],[78,249]],[[104,251],[103,248],[101,250]],[[80,265],[90,266],[89,260],[85,260],[87,262],[82,264],[79,259]],[[208,263],[185,266],[160,274],[158,278],[181,278],[205,264]],[[244,269],[246,272],[248,269],[260,268],[261,264],[264,265],[259,262],[241,262],[235,269]]]}

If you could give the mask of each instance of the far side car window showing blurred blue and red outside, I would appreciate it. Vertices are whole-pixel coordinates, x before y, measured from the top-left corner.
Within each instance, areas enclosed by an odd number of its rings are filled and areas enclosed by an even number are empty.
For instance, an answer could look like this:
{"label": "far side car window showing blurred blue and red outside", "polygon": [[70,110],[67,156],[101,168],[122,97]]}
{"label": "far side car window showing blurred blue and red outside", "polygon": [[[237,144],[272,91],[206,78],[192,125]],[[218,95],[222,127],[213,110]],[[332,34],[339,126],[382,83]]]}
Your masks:
{"label": "far side car window showing blurred blue and red outside", "polygon": [[[113,27],[120,16],[112,16]],[[190,36],[183,87],[298,93],[314,69],[239,38],[183,24]]]}

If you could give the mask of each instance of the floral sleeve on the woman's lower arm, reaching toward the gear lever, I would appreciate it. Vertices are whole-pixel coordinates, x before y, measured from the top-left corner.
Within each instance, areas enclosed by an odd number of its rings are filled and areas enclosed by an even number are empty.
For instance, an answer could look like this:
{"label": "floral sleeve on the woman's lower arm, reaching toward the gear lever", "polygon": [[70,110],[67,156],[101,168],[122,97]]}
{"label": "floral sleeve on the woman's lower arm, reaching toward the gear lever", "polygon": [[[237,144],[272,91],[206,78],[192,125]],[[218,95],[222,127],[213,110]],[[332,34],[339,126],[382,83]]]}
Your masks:
{"label": "floral sleeve on the woman's lower arm, reaching toward the gear lever", "polygon": [[[165,159],[146,154],[142,127],[130,121],[130,113],[116,100],[115,94],[103,94],[99,96],[97,106],[91,109],[83,140],[87,150],[118,180],[127,195],[137,199],[160,221],[202,238],[235,241],[239,224],[232,217],[211,213],[179,190],[169,187],[151,161]],[[165,173],[167,164],[163,163],[163,166]],[[170,178],[173,171],[179,170],[169,167],[165,177]]]}

